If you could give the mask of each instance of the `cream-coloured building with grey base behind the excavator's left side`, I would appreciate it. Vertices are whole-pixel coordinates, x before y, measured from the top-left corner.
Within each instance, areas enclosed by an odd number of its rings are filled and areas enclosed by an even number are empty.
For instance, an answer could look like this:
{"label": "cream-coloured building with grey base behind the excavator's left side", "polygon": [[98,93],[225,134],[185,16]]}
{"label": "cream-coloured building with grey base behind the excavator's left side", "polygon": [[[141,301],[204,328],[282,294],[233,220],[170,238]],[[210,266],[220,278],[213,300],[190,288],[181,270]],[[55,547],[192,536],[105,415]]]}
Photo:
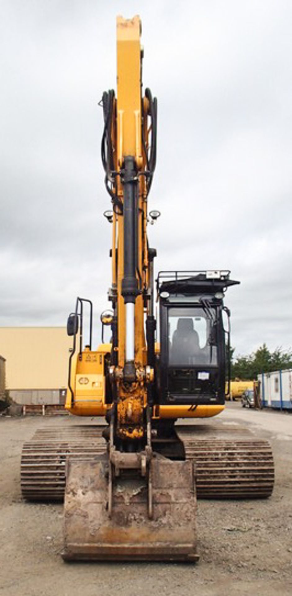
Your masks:
{"label": "cream-coloured building with grey base behind the excavator's left side", "polygon": [[66,327],[0,327],[6,388],[17,403],[60,403],[72,337]]}

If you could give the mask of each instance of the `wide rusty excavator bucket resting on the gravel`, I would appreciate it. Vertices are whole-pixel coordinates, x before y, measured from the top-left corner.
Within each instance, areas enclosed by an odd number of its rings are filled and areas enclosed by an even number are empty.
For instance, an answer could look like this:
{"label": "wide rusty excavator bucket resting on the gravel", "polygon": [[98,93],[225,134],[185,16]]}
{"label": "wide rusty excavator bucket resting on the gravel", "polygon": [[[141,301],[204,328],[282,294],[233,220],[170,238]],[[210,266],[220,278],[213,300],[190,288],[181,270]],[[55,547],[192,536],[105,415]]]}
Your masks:
{"label": "wide rusty excavator bucket resting on the gravel", "polygon": [[107,455],[92,461],[67,461],[64,560],[195,561],[195,525],[191,461],[153,457],[147,480],[136,470],[130,475],[127,470],[114,480],[111,515]]}

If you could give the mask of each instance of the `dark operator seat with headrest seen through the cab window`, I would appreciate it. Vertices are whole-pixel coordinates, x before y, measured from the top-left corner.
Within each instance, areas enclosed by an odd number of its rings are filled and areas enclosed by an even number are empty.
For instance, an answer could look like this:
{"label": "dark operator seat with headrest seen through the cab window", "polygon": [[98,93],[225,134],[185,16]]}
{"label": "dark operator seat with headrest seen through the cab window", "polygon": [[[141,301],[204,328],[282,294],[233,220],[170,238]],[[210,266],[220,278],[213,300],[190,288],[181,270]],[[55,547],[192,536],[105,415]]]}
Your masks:
{"label": "dark operator seat with headrest seen through the cab window", "polygon": [[191,365],[200,352],[197,331],[191,318],[179,318],[172,336],[170,364]]}

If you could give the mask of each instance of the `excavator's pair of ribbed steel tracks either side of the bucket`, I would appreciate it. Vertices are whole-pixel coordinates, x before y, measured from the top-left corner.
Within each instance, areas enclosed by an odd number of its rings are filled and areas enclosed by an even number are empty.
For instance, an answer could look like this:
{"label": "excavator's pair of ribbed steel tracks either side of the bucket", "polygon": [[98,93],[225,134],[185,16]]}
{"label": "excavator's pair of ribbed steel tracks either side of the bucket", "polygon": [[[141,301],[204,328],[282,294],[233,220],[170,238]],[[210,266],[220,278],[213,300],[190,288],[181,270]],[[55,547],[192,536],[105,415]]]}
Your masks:
{"label": "excavator's pair of ribbed steel tracks either side of the bucket", "polygon": [[[38,430],[21,455],[21,491],[30,501],[63,501],[66,457],[91,460],[105,451],[104,426]],[[185,429],[187,430],[187,428]],[[274,487],[274,461],[266,440],[219,439],[182,433],[186,458],[195,461],[197,498],[266,498]]]}

